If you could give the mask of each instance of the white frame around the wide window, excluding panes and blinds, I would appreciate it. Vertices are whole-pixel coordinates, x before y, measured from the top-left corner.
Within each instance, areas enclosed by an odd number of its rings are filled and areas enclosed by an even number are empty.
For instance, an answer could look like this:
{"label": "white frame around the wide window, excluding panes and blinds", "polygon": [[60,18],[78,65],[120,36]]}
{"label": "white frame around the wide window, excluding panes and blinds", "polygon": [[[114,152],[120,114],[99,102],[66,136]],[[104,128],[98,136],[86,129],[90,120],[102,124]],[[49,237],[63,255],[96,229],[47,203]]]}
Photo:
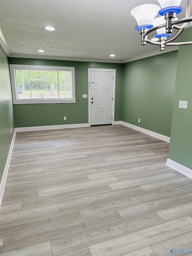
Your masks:
{"label": "white frame around the wide window, excluding panes and blinds", "polygon": [[[75,103],[75,68],[61,66],[41,66],[41,65],[20,65],[10,64],[10,78],[13,95],[13,104],[50,104],[50,103]],[[47,70],[47,71],[71,71],[72,79],[72,99],[17,99],[15,69],[21,70]]]}

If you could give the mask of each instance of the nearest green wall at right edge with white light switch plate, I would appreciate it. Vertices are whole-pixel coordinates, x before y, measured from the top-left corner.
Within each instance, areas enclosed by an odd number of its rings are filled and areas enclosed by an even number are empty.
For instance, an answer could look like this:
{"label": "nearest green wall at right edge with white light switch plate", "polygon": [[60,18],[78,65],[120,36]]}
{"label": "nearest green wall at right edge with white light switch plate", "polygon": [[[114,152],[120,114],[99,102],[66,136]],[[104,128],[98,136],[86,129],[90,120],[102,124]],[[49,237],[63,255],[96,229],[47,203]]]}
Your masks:
{"label": "nearest green wall at right edge with white light switch plate", "polygon": [[[192,41],[192,27],[180,41]],[[179,100],[188,101],[187,109]],[[192,45],[179,47],[169,158],[192,169]]]}

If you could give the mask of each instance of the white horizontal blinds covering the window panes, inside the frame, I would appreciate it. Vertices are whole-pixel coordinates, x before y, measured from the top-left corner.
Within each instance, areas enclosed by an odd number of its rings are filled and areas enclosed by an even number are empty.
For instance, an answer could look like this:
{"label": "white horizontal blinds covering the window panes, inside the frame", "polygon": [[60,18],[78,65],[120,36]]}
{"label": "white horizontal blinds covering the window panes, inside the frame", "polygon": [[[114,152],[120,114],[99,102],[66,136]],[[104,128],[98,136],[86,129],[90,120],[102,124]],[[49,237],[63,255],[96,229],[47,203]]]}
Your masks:
{"label": "white horizontal blinds covering the window panes, inside the frame", "polygon": [[17,99],[72,99],[71,71],[15,69]]}

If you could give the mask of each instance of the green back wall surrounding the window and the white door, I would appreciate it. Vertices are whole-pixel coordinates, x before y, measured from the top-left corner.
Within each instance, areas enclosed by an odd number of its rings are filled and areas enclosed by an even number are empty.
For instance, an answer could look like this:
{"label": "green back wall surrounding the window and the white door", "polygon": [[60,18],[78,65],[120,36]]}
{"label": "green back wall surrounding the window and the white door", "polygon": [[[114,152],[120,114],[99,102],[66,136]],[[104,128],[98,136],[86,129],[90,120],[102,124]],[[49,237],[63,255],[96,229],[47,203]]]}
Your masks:
{"label": "green back wall surrounding the window and the white door", "polygon": [[88,94],[88,68],[116,69],[115,121],[122,120],[123,64],[20,58],[9,58],[9,63],[75,67],[76,103],[14,104],[15,127],[88,123],[88,98],[82,98]]}

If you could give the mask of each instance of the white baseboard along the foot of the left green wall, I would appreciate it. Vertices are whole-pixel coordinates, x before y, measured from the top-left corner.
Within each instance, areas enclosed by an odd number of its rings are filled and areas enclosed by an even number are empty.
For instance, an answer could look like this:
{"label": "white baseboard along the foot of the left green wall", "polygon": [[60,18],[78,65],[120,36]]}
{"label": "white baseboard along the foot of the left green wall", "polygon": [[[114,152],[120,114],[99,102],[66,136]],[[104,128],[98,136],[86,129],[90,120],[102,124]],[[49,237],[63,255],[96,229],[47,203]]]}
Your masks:
{"label": "white baseboard along the foot of the left green wall", "polygon": [[13,144],[14,144],[14,141],[15,141],[15,135],[16,135],[16,131],[14,131],[14,133],[13,133],[13,138],[12,138],[9,153],[8,153],[8,156],[7,156],[7,162],[5,164],[3,176],[2,176],[2,179],[1,179],[1,184],[0,184],[0,207],[1,207],[1,202],[2,202],[2,198],[3,198],[5,183],[6,183],[6,180],[7,180],[7,174],[8,174],[8,170],[9,170],[11,154],[12,154],[12,151],[13,151]]}

